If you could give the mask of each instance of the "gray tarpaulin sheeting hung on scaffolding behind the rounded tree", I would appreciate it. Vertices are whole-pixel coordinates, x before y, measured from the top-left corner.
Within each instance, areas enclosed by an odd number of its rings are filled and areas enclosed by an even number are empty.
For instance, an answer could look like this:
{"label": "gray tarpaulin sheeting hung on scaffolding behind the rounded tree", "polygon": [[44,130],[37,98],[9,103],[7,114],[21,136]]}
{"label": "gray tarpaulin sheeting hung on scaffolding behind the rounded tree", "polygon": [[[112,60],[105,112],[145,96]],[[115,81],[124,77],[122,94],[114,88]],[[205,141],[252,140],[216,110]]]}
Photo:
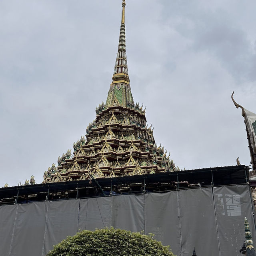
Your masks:
{"label": "gray tarpaulin sheeting hung on scaffolding behind the rounded tree", "polygon": [[153,233],[177,256],[240,255],[244,217],[256,239],[248,185],[0,206],[0,256],[44,256],[79,230]]}

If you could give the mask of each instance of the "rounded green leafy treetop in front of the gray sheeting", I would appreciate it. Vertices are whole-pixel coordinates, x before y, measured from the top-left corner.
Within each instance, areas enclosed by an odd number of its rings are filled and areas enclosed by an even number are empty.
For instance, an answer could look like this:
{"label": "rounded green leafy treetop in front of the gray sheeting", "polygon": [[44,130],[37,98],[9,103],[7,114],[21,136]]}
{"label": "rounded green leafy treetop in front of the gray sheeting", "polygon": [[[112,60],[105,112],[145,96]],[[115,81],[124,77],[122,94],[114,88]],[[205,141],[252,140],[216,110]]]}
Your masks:
{"label": "rounded green leafy treetop in front of the gray sheeting", "polygon": [[140,233],[104,228],[83,230],[54,246],[46,256],[174,256],[168,246]]}

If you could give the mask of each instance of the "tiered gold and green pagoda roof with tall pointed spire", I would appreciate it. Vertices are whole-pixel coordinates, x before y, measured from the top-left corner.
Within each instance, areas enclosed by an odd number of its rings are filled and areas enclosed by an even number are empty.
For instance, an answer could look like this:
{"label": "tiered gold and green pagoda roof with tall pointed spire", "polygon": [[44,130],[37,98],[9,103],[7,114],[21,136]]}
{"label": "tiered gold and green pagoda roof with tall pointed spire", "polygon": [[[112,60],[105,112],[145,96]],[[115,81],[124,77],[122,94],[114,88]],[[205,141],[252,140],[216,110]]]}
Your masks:
{"label": "tiered gold and green pagoda roof with tall pointed spire", "polygon": [[177,170],[166,150],[156,145],[145,110],[134,104],[128,76],[125,44],[125,0],[116,64],[106,104],[96,108],[96,119],[86,129],[86,138],[74,143],[44,172],[43,183],[138,175]]}

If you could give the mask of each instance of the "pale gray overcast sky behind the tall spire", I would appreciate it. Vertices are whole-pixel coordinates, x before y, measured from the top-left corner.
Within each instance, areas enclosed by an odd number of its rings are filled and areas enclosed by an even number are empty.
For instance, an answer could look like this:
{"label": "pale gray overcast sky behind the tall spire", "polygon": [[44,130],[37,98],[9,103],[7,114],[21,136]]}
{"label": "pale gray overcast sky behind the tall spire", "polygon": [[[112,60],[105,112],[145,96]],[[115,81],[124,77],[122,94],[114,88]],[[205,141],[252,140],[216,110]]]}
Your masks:
{"label": "pale gray overcast sky behind the tall spire", "polygon": [[[106,101],[121,0],[0,1],[0,187],[41,183]],[[250,164],[256,2],[126,0],[134,101],[180,168]]]}

